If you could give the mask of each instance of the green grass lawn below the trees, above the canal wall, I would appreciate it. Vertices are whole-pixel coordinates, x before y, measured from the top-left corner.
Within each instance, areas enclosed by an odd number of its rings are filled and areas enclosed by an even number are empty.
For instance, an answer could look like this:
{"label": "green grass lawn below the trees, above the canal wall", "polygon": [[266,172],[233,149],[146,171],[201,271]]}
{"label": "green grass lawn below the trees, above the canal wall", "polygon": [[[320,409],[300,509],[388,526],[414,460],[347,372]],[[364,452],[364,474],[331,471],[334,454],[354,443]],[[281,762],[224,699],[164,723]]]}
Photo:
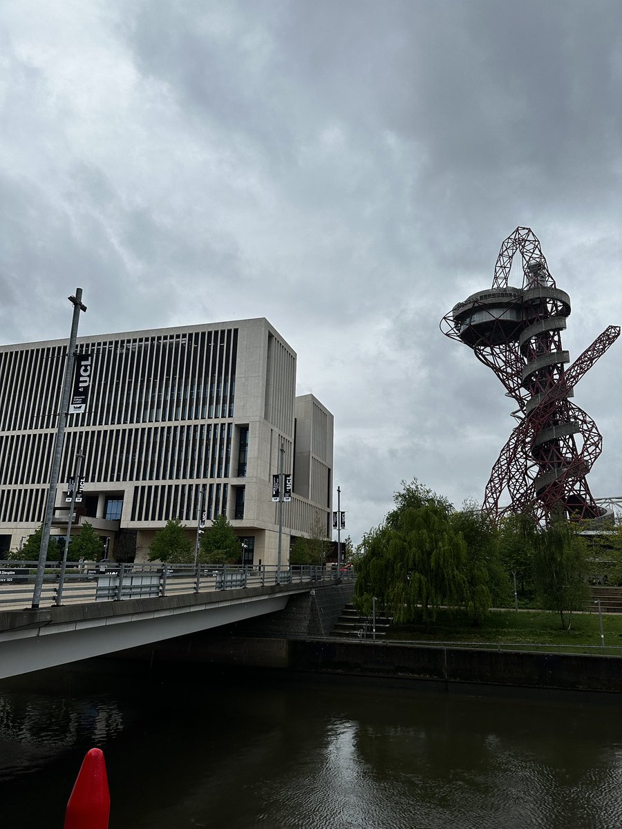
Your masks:
{"label": "green grass lawn below the trees, above the canal wall", "polygon": [[391,625],[386,639],[479,647],[518,645],[526,650],[622,656],[622,613],[603,613],[603,630],[605,650],[600,647],[598,613],[573,613],[571,629],[562,630],[559,613],[542,610],[494,610],[477,627],[469,623],[464,613],[440,610],[436,622],[427,627],[424,623]]}

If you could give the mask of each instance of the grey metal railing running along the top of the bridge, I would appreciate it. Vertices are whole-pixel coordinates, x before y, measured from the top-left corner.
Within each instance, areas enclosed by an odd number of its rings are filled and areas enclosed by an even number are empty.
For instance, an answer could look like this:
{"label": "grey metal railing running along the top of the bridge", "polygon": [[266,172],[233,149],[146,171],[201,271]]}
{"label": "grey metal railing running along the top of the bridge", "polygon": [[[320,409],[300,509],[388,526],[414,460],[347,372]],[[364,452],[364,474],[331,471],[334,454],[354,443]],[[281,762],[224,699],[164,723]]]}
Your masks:
{"label": "grey metal railing running along the top of the bridge", "polygon": [[[27,608],[32,603],[36,561],[0,560],[0,611]],[[158,596],[265,587],[269,584],[333,582],[353,579],[351,568],[335,565],[169,565],[112,564],[101,561],[49,562],[43,576],[41,608],[60,604],[147,599]]]}

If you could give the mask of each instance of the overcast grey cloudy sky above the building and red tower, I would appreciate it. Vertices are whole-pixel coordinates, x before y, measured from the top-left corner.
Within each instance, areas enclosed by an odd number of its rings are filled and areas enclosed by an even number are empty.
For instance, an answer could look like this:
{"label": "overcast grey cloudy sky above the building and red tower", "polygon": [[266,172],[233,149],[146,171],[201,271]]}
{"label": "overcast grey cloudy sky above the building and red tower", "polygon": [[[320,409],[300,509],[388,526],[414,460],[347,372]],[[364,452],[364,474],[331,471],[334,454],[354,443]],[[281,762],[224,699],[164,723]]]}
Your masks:
{"label": "overcast grey cloudy sky above the building and red tower", "polygon": [[[4,0],[0,342],[265,317],[335,417],[359,541],[481,501],[515,408],[440,318],[518,225],[571,360],[622,322],[622,4]],[[519,284],[520,284],[520,280]],[[622,495],[622,342],[576,388]]]}

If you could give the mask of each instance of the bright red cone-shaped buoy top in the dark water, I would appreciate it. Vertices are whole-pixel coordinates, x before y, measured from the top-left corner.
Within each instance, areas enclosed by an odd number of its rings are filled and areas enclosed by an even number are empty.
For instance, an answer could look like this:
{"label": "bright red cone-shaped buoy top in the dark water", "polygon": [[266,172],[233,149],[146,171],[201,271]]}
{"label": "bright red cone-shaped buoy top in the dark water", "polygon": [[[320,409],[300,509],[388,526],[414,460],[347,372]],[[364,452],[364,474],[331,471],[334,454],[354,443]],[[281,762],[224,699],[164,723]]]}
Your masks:
{"label": "bright red cone-shaped buoy top in the dark water", "polygon": [[90,749],[75,778],[64,829],[108,829],[109,814],[110,793],[104,752]]}

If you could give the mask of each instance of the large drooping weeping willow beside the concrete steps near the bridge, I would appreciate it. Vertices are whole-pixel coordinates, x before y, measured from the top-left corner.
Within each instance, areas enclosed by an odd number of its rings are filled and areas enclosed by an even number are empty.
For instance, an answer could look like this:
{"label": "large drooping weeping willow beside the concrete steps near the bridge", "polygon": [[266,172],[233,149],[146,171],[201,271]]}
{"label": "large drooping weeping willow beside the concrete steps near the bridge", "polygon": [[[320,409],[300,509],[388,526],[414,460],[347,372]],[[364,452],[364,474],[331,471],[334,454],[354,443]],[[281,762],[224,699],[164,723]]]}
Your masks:
{"label": "large drooping weeping willow beside the concrete steps near the bridge", "polygon": [[357,607],[369,613],[376,596],[397,623],[434,621],[441,605],[464,608],[477,622],[491,606],[487,560],[469,555],[444,497],[417,481],[402,486],[395,509],[363,539]]}

